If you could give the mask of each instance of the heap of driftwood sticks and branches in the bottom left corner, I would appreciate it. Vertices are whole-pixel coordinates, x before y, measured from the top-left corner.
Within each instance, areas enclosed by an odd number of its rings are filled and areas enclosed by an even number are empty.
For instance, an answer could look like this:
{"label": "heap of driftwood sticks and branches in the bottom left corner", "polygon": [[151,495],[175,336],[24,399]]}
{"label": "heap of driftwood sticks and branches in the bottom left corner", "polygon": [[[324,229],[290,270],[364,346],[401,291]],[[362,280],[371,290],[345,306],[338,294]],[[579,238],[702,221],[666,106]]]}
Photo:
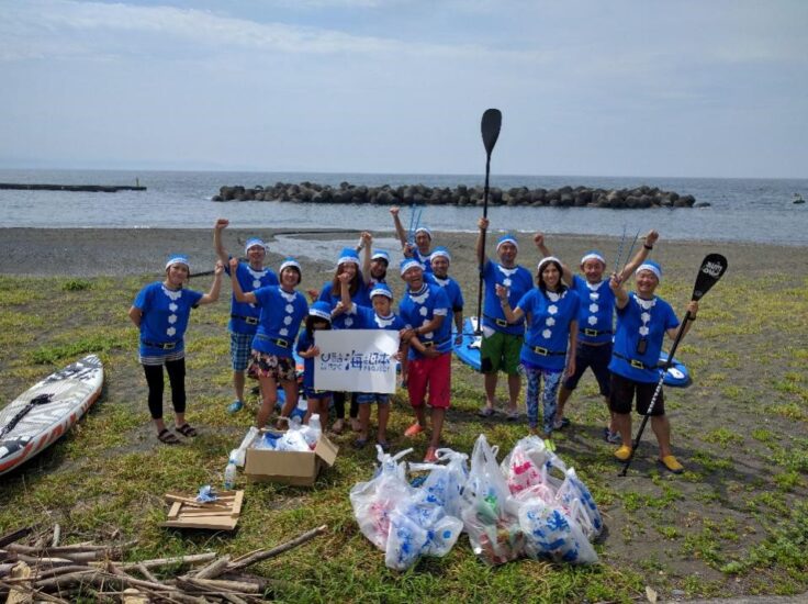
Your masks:
{"label": "heap of driftwood sticks and branches in the bottom left corner", "polygon": [[[72,602],[81,597],[126,604],[263,602],[273,596],[272,580],[247,574],[245,569],[299,547],[326,530],[327,526],[323,525],[277,547],[235,559],[211,551],[123,562],[126,549],[137,541],[50,546],[47,544],[54,540],[49,530],[45,539],[44,535],[25,527],[0,536],[0,601]],[[18,543],[25,538],[31,545]],[[153,573],[155,569],[160,569],[161,578]]]}

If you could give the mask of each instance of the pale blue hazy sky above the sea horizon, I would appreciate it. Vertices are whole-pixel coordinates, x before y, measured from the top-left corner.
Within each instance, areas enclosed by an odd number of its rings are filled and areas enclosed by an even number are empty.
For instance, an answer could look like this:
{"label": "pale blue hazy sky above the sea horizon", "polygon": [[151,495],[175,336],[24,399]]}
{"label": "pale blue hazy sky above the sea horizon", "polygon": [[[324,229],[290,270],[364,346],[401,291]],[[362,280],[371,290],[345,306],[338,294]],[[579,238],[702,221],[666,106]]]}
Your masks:
{"label": "pale blue hazy sky above the sea horizon", "polygon": [[808,177],[808,2],[0,0],[0,167]]}

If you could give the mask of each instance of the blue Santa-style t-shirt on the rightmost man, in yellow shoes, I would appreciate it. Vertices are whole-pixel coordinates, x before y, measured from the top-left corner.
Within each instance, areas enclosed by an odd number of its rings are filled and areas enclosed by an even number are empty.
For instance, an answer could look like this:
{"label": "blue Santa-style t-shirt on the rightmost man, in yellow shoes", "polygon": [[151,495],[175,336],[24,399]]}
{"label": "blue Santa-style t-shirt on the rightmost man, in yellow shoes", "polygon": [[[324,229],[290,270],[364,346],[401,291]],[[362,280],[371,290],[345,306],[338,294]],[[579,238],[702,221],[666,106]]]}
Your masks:
{"label": "blue Santa-style t-shirt on the rightmost man, in yellow shoes", "polygon": [[[642,300],[635,292],[629,292],[628,303],[617,309],[617,329],[615,345],[611,349],[609,371],[636,382],[655,382],[660,379],[656,367],[662,351],[665,332],[678,327],[678,318],[671,305],[661,298]],[[646,338],[646,354],[637,353],[640,339]],[[643,369],[632,367],[631,360],[641,361]]]}

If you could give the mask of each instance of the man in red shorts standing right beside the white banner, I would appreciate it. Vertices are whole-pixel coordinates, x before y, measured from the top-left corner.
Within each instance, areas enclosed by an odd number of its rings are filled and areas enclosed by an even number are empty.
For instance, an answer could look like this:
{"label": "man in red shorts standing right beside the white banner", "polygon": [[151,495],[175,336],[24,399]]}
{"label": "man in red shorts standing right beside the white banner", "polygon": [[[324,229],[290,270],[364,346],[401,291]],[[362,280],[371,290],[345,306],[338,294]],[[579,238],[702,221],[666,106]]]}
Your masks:
{"label": "man in red shorts standing right beside the white banner", "polygon": [[434,462],[451,399],[451,307],[444,288],[424,280],[424,270],[415,258],[402,260],[401,276],[407,284],[399,304],[406,325],[401,338],[409,345],[407,393],[415,411],[415,423],[404,435],[413,437],[424,432],[428,391],[433,434],[424,461]]}

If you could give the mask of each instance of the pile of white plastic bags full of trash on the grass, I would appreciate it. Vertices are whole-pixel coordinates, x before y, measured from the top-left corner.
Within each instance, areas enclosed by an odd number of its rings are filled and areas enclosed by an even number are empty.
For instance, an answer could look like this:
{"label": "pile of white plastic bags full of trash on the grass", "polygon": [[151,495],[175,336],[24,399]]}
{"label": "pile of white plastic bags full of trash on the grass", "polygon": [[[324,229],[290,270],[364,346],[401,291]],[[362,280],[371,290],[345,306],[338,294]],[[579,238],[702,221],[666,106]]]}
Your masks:
{"label": "pile of white plastic bags full of trash on the grass", "polygon": [[405,570],[422,556],[446,556],[460,534],[491,566],[524,557],[573,564],[597,562],[592,541],[603,518],[573,468],[537,436],[519,440],[496,462],[480,435],[469,456],[438,449],[437,463],[400,461],[412,451],[379,451],[379,468],[356,484],[350,502],[362,534],[384,551],[388,568]]}

